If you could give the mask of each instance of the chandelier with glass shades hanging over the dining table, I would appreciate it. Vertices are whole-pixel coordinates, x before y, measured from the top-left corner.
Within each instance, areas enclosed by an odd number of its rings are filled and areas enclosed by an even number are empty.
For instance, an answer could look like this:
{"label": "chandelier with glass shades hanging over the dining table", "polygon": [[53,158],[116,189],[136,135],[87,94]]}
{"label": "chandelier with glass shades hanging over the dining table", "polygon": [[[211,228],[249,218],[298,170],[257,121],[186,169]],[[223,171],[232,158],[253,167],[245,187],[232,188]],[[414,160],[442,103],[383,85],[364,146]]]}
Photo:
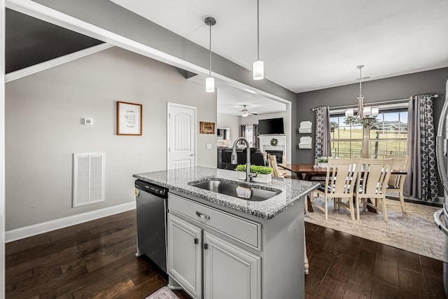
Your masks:
{"label": "chandelier with glass shades hanging over the dining table", "polygon": [[363,79],[369,77],[362,76],[362,69],[364,65],[358,65],[356,69],[359,69],[359,95],[358,95],[358,111],[355,116],[355,109],[350,108],[345,111],[345,121],[346,125],[363,125],[367,127],[373,123],[377,123],[377,116],[379,109],[377,107],[364,106],[364,96],[363,96]]}

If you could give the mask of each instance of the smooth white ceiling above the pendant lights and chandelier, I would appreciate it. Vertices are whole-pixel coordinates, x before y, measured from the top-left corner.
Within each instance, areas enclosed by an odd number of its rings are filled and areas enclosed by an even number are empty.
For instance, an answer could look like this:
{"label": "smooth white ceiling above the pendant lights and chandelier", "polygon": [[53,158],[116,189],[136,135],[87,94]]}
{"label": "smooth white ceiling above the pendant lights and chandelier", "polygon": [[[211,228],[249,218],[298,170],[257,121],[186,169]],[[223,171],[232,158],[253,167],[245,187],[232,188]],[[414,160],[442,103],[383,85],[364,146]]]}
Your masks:
{"label": "smooth white ceiling above the pendant lights and chandelier", "polygon": [[[112,0],[246,69],[257,58],[256,0]],[[265,78],[293,92],[448,67],[447,0],[260,0]]]}

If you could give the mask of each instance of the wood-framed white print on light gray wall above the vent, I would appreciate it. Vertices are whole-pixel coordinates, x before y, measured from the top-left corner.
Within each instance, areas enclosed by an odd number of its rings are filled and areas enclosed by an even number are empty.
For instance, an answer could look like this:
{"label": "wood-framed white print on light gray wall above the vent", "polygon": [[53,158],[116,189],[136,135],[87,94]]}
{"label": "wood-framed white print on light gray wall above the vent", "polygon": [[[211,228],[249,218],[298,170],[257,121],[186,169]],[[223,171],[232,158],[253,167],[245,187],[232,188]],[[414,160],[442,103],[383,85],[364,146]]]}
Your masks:
{"label": "wood-framed white print on light gray wall above the vent", "polygon": [[117,102],[117,135],[141,135],[141,104]]}

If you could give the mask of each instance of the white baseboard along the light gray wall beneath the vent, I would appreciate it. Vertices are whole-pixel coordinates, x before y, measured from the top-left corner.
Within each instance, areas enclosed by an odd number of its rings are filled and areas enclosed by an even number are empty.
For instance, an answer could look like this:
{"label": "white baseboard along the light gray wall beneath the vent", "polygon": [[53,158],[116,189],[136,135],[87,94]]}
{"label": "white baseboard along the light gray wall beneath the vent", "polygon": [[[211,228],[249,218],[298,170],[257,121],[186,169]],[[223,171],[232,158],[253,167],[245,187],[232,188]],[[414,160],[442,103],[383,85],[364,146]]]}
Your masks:
{"label": "white baseboard along the light gray wall beneath the vent", "polygon": [[135,209],[135,202],[118,204],[117,206],[98,209],[96,211],[88,211],[83,214],[59,218],[52,221],[37,223],[34,225],[28,225],[23,228],[15,228],[14,230],[8,230],[5,232],[5,242],[13,242],[18,239],[24,239],[26,237],[39,235],[43,232],[59,230],[59,228],[66,228],[67,226],[92,221],[106,216],[122,213],[124,211],[130,211],[132,209]]}

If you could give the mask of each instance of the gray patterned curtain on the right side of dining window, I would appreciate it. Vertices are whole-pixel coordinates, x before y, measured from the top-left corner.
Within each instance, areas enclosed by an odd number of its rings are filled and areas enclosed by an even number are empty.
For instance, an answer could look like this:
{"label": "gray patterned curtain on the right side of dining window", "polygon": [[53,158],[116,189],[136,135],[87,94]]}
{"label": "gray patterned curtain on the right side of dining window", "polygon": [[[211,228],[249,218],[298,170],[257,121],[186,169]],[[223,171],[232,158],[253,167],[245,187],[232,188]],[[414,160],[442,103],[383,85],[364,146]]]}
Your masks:
{"label": "gray patterned curtain on the right side of dining window", "polygon": [[427,95],[411,97],[407,122],[409,169],[404,193],[426,202],[434,202],[438,190],[433,99]]}

